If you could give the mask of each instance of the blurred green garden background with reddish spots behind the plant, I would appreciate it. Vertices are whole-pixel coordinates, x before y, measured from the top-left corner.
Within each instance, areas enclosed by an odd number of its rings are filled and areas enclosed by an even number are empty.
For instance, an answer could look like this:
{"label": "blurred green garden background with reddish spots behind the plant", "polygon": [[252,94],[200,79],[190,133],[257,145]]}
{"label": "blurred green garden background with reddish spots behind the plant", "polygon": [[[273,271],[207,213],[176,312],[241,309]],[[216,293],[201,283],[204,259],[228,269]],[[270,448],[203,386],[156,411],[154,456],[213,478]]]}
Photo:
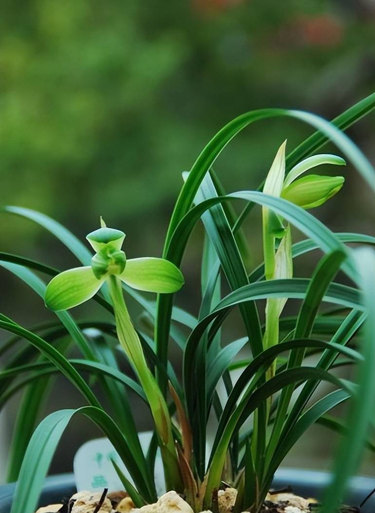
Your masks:
{"label": "blurred green garden background with reddish spots behind the plant", "polygon": [[[40,210],[80,238],[101,214],[127,233],[129,257],[160,255],[181,173],[225,123],[263,107],[331,119],[371,92],[372,7],[371,0],[3,0],[1,203]],[[371,121],[349,130],[369,157]],[[309,133],[297,121],[255,124],[228,146],[216,171],[228,190],[256,188],[283,140],[291,150]],[[343,191],[315,215],[333,230],[372,233],[370,192],[350,166],[339,172]],[[255,213],[246,225],[255,262],[259,219]],[[0,223],[1,250],[61,268],[75,263],[32,223],[9,215]],[[184,261],[180,299],[191,311],[201,239],[198,230]],[[308,275],[312,265],[298,264],[297,272]],[[46,318],[5,271],[1,284],[1,311],[26,325]],[[56,394],[45,411],[79,403],[64,380],[58,386],[69,393]],[[17,404],[0,418],[4,446]],[[71,447],[59,449],[53,471],[70,470],[76,448],[97,435],[82,425],[75,424]],[[288,463],[327,467],[329,442],[314,446],[321,429],[310,431],[306,455],[298,449]]]}

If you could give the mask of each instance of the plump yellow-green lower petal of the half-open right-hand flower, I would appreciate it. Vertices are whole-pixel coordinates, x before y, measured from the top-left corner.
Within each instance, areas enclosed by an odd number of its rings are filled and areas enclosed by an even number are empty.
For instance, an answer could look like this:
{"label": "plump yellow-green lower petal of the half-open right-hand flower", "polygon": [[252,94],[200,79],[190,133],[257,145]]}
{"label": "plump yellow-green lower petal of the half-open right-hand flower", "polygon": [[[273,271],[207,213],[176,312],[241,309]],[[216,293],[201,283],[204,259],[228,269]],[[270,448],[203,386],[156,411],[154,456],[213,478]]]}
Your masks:
{"label": "plump yellow-green lower petal of the half-open right-hand flower", "polygon": [[343,176],[309,174],[285,187],[281,197],[303,208],[323,205],[344,185]]}

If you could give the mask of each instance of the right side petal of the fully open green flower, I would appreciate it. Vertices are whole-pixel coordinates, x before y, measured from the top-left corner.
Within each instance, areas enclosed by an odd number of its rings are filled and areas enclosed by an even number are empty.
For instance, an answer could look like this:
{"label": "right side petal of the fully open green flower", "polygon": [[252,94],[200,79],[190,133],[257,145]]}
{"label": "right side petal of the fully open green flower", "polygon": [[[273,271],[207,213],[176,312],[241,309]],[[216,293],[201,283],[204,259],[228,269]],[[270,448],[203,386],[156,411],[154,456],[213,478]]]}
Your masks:
{"label": "right side petal of the fully open green flower", "polygon": [[176,292],[185,283],[182,272],[172,262],[151,257],[127,260],[119,278],[130,287],[146,292]]}

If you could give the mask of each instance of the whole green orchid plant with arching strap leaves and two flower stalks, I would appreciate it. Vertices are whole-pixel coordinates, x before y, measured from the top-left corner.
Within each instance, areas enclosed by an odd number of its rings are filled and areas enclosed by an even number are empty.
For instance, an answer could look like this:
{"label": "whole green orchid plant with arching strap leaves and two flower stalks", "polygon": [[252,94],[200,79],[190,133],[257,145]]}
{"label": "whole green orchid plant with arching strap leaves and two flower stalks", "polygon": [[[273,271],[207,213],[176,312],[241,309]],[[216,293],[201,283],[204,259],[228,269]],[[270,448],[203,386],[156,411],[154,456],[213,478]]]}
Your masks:
{"label": "whole green orchid plant with arching strap leaves and two flower stalks", "polygon": [[[374,388],[371,246],[375,239],[367,234],[333,233],[310,213],[331,198],[337,201],[334,196],[344,186],[341,175],[311,170],[322,165],[344,166],[349,160],[373,187],[371,165],[344,134],[373,108],[372,95],[331,123],[284,109],[252,111],[230,122],[207,144],[190,172],[183,174],[163,258],[128,260],[125,233],[107,227],[103,219],[101,227],[87,235],[92,254],[44,214],[21,207],[2,208],[3,213],[23,216],[46,228],[81,262],[60,272],[20,255],[0,253],[0,265],[39,294],[56,315],[56,323],[48,327],[26,329],[0,314],[0,328],[12,334],[1,352],[19,340],[29,343],[0,371],[0,405],[30,383],[28,393],[40,394],[38,380],[48,380],[56,371],[81,392],[84,403],[78,409],[52,413],[32,436],[15,430],[8,467],[9,479],[17,481],[11,513],[34,513],[55,448],[76,415],[100,427],[130,476],[113,463],[128,509],[125,502],[109,504],[104,494],[93,503],[92,511],[110,511],[101,509],[105,501],[113,511],[339,511],[363,447],[374,449],[368,437]],[[250,123],[274,116],[294,117],[318,131],[289,154],[286,142],[281,144],[258,190],[227,193],[212,169],[216,158]],[[339,148],[340,156],[317,153],[328,141]],[[240,214],[232,205],[239,201],[244,204]],[[251,267],[243,221],[255,206],[262,209],[264,262]],[[174,304],[174,293],[184,285],[182,259],[198,222],[204,225],[205,241],[200,262],[201,303],[194,317]],[[305,239],[293,244],[292,227]],[[353,250],[351,244],[364,247]],[[312,275],[295,278],[293,260],[314,249],[320,249],[323,256]],[[337,281],[340,270],[350,285]],[[48,284],[36,271],[49,277]],[[224,293],[226,287],[229,293]],[[145,299],[142,291],[156,293],[156,302]],[[91,299],[113,315],[112,322],[83,323],[73,317],[69,310]],[[283,315],[288,299],[299,300],[296,315]],[[265,300],[264,323],[260,300]],[[128,301],[146,309],[152,333],[132,319]],[[330,308],[322,308],[323,302]],[[241,314],[244,337],[231,340],[221,328],[235,308]],[[105,352],[88,336],[88,327],[100,330],[108,341]],[[69,358],[66,344],[61,343],[67,333],[82,358]],[[181,350],[181,380],[168,359],[170,344]],[[247,351],[245,359],[239,358],[242,350]],[[314,357],[312,364],[309,357]],[[131,375],[119,368],[123,358],[132,368]],[[332,372],[344,365],[356,369],[354,381]],[[83,372],[96,377],[107,403],[98,399]],[[333,389],[317,396],[315,391],[324,382]],[[154,434],[146,453],[127,389],[149,407]],[[349,405],[350,429],[330,415],[342,403]],[[23,406],[23,415],[26,410],[30,412],[30,402]],[[30,413],[36,416],[37,412],[35,406]],[[296,499],[291,492],[273,492],[274,477],[285,456],[314,423],[343,433],[325,492],[311,489],[321,502]],[[212,444],[207,449],[210,431]],[[158,449],[168,492],[162,498],[157,497],[154,480]],[[367,495],[371,490],[362,491]],[[55,510],[74,513],[78,502],[76,498],[75,505],[71,501]]]}

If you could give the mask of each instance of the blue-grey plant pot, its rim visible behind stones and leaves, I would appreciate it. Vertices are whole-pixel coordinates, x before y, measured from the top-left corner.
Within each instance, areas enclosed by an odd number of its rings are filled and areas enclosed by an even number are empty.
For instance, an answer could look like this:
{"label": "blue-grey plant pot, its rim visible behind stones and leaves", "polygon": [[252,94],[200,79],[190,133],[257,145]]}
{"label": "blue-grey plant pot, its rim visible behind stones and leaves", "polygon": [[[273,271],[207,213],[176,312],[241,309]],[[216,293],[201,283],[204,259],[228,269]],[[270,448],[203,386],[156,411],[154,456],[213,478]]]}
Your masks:
{"label": "blue-grey plant pot, its rim visible behind stones and leaves", "polygon": [[[322,490],[324,490],[327,485],[328,479],[329,474],[327,472],[281,468],[277,471],[272,486],[274,488],[283,488],[290,485],[297,495],[319,498],[322,495]],[[374,480],[372,478],[353,478],[347,502],[351,505],[359,506],[373,487]],[[63,498],[70,497],[75,491],[73,474],[51,476],[46,479],[40,505],[61,502]],[[0,486],[0,513],[9,513],[13,492],[14,484]],[[374,511],[375,498],[371,497],[361,509],[361,513],[373,513]]]}

